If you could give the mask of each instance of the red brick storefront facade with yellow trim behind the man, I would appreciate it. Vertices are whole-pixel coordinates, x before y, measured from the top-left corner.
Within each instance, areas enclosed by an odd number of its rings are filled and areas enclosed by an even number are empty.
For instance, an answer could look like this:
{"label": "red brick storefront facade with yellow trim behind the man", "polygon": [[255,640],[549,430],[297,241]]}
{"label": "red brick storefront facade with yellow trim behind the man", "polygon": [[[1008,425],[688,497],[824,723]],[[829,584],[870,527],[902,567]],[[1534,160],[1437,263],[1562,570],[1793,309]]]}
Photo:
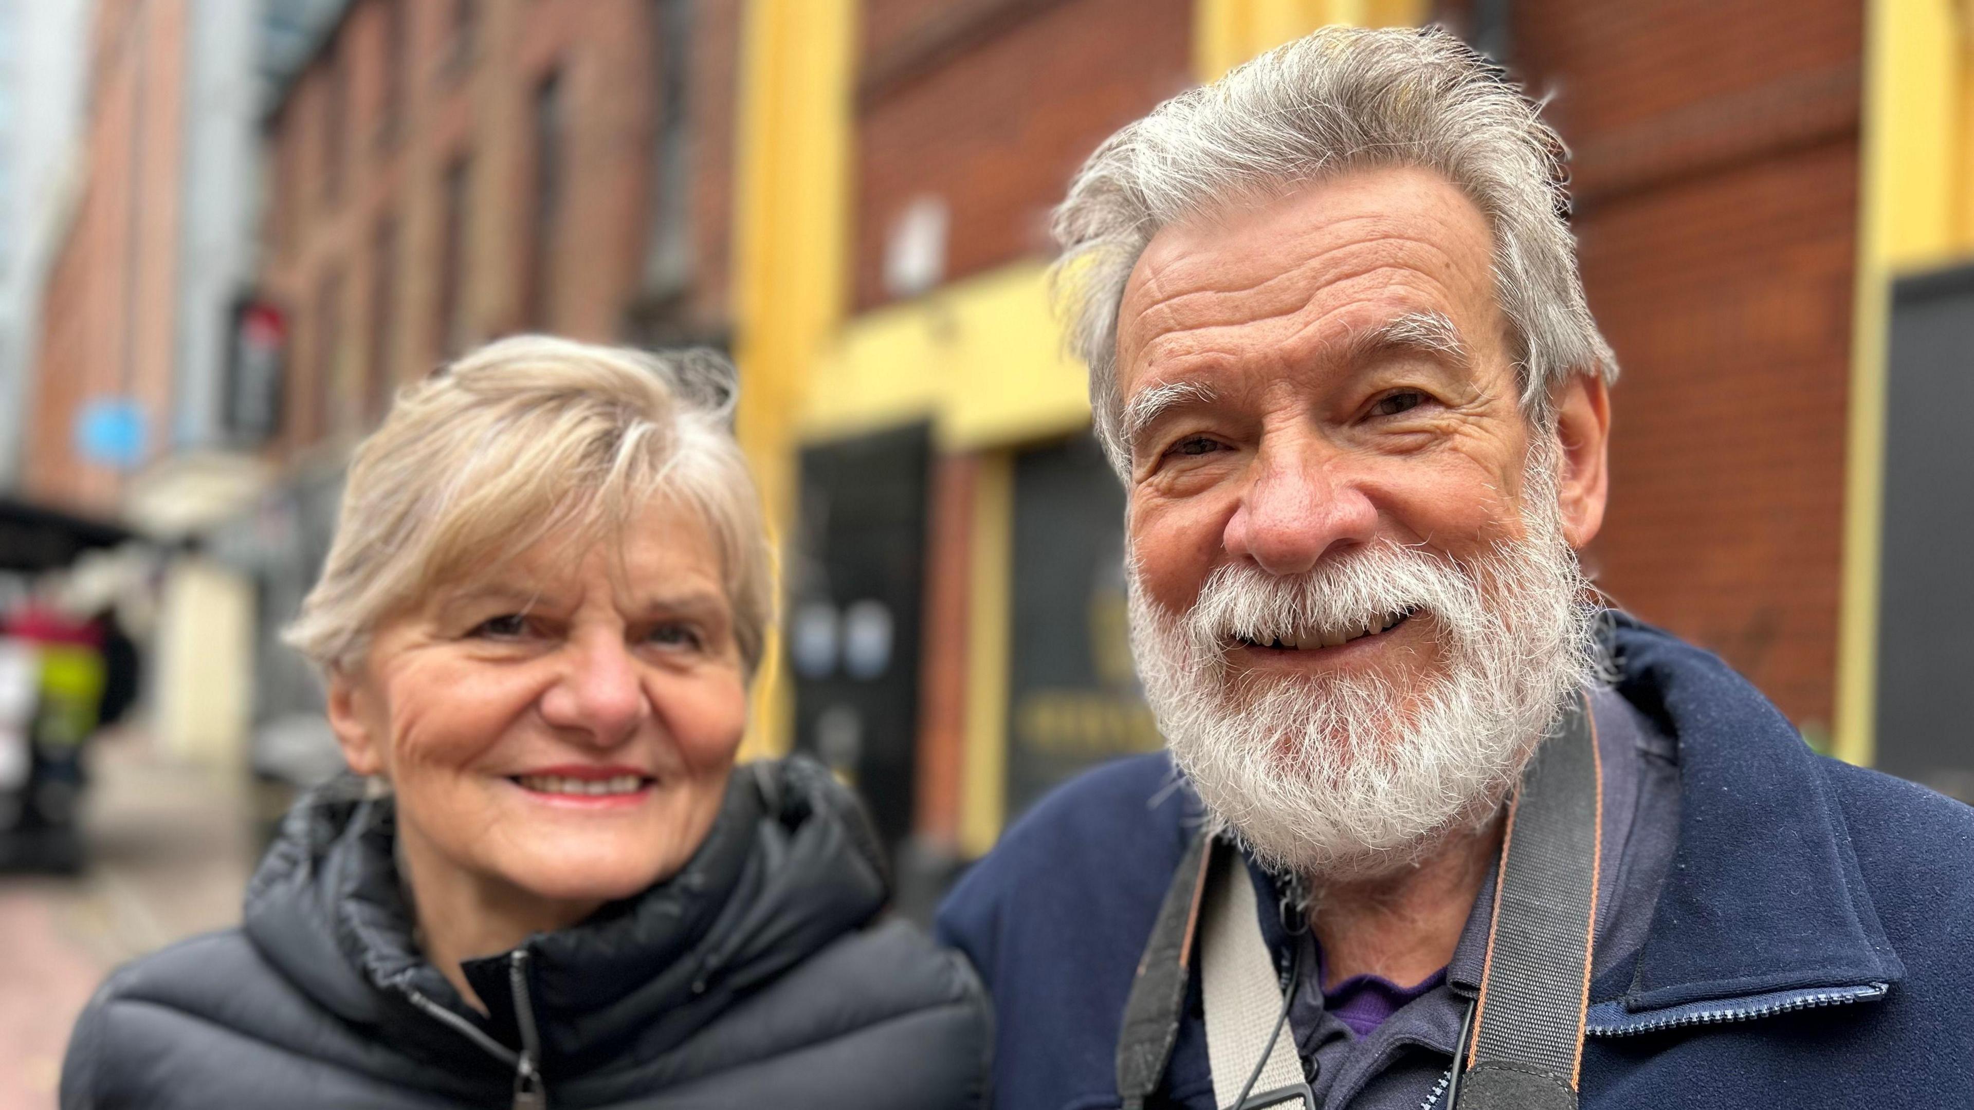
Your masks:
{"label": "red brick storefront facade with yellow trim behind the man", "polygon": [[[1046,308],[1046,211],[1117,124],[1325,22],[1443,22],[1550,101],[1625,369],[1597,585],[1723,654],[1810,743],[1861,762],[1893,743],[1879,644],[1942,618],[1879,614],[1881,551],[1940,527],[1893,535],[1887,306],[1901,275],[1974,253],[1964,4],[754,8],[780,22],[750,20],[742,59],[740,431],[792,537],[762,745],[837,762],[890,832],[973,855],[1064,774],[1157,745],[1119,666],[1123,500]],[[778,190],[790,168],[805,196]],[[1964,357],[1936,332],[1935,377]],[[855,571],[873,559],[888,571]],[[873,628],[910,654],[859,662]],[[1954,788],[1974,751],[1887,766]]]}

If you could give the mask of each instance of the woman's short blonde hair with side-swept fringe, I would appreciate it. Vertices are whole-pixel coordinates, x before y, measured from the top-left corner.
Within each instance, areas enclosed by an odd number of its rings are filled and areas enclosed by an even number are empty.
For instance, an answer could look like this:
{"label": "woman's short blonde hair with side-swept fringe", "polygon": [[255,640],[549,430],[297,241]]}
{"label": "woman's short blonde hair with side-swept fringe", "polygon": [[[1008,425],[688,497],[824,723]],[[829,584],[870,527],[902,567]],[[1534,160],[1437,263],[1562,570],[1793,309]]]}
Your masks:
{"label": "woman's short blonde hair with side-swept fringe", "polygon": [[701,514],[748,672],[774,616],[768,539],[734,442],[734,369],[515,336],[407,387],[349,462],[336,541],[286,640],[322,670],[432,589],[549,535],[604,541],[657,498]]}

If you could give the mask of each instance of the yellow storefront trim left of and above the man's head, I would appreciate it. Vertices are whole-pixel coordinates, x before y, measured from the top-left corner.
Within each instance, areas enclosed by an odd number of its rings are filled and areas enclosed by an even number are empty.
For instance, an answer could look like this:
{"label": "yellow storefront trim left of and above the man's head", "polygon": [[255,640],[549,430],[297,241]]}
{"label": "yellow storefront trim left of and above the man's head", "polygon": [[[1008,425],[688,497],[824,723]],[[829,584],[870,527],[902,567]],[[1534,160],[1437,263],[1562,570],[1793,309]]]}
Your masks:
{"label": "yellow storefront trim left of and above the man's head", "polygon": [[[1198,0],[1194,69],[1212,79],[1325,24],[1417,24],[1427,0]],[[959,849],[1001,832],[1013,452],[1090,423],[1084,369],[1062,350],[1046,265],[1028,259],[847,318],[855,0],[752,0],[742,43],[734,354],[740,442],[770,517],[792,519],[805,442],[930,421],[934,444],[979,452],[969,559]],[[778,644],[770,646],[770,660]],[[788,751],[790,687],[770,662],[746,754]]]}

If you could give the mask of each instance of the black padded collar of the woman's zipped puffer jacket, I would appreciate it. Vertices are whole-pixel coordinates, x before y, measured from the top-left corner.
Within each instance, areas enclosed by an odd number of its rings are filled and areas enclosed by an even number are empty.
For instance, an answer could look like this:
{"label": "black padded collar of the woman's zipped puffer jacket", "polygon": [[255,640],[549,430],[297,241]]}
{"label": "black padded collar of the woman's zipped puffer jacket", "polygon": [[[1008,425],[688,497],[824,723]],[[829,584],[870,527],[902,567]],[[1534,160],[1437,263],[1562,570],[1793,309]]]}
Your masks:
{"label": "black padded collar of the woman's zipped puffer jacket", "polygon": [[[347,784],[290,812],[249,885],[247,936],[306,995],[440,1063],[484,1063],[468,1039],[432,1035],[418,997],[519,1045],[511,952],[468,960],[488,1013],[466,1007],[424,960],[399,883],[391,798]],[[869,922],[888,897],[857,800],[792,758],[734,768],[713,830],[685,869],[565,930],[529,936],[529,1009],[547,1063],[586,1070],[683,1043],[750,988]]]}

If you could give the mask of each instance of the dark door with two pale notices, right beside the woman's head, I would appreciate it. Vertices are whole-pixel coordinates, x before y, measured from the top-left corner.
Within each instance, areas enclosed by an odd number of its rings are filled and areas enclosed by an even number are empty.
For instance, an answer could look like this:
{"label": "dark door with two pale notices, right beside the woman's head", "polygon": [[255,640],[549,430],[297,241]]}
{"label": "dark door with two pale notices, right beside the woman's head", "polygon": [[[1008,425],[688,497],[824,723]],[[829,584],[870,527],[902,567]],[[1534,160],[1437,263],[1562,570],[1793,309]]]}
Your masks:
{"label": "dark door with two pale notices, right beside the woman's head", "polygon": [[853,782],[888,843],[912,832],[930,429],[801,452],[788,606],[796,749]]}

